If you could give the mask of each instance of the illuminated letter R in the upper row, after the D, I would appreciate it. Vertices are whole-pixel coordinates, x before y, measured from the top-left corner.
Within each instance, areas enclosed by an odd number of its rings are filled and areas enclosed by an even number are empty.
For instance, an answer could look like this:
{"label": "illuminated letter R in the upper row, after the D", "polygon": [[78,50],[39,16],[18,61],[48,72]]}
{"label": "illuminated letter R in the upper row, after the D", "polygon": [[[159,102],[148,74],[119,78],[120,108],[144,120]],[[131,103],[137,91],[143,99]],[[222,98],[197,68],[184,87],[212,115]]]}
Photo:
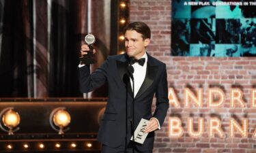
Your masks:
{"label": "illuminated letter R in the upper row, after the D", "polygon": [[244,101],[242,100],[242,90],[240,90],[240,88],[231,88],[231,107],[235,107],[235,101],[237,101],[240,106],[245,107]]}

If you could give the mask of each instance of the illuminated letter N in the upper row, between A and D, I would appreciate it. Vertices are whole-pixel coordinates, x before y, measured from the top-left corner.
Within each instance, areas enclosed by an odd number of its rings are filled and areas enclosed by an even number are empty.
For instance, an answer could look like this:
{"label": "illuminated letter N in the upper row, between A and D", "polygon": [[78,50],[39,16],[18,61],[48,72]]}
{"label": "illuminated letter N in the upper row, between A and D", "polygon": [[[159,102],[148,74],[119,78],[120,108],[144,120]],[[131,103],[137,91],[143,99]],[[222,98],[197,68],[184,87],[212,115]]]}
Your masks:
{"label": "illuminated letter N in the upper row, between A and D", "polygon": [[189,107],[189,102],[194,101],[195,105],[197,107],[202,107],[203,106],[203,89],[199,88],[197,90],[197,96],[194,95],[194,93],[189,89],[185,88],[184,89],[184,100],[185,100],[185,106]]}

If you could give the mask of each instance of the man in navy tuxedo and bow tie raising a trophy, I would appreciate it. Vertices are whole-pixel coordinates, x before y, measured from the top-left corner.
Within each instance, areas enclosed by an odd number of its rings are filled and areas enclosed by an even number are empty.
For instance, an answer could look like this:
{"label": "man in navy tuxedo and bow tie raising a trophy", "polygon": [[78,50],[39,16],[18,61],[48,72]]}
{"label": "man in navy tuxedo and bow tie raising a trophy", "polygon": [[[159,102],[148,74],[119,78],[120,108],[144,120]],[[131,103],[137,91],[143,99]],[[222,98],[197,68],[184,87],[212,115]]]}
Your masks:
{"label": "man in navy tuxedo and bow tie raising a trophy", "polygon": [[[126,26],[124,32],[126,54],[109,56],[91,74],[89,65],[79,65],[81,91],[90,92],[105,82],[109,86],[109,99],[98,132],[102,153],[132,152],[132,147],[135,148],[135,152],[152,152],[154,131],[160,129],[169,107],[166,65],[145,52],[150,44],[151,35],[147,24],[132,22]],[[89,51],[88,46],[81,46],[81,55],[87,54],[87,51]],[[137,63],[139,59],[142,62]],[[134,72],[128,71],[129,65],[132,65]],[[132,78],[134,78],[134,93]],[[132,99],[133,94],[134,99]],[[156,95],[156,110],[152,116],[154,95]],[[142,145],[130,141],[132,136],[130,120],[132,121],[133,114],[135,129],[141,118],[150,120],[145,127],[145,133],[149,134]]]}

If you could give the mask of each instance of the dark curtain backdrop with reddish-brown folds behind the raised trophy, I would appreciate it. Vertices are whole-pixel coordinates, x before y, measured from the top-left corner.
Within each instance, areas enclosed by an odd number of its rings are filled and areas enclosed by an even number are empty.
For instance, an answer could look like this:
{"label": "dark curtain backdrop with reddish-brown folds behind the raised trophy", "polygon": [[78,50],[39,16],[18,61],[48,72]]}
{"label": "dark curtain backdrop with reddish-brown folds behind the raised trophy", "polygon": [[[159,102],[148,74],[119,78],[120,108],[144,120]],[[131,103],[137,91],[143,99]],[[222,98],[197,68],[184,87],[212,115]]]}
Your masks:
{"label": "dark curtain backdrop with reddish-brown folds behind the raised trophy", "polygon": [[0,0],[0,97],[82,97],[81,44],[96,36],[92,69],[116,54],[117,10],[117,0]]}

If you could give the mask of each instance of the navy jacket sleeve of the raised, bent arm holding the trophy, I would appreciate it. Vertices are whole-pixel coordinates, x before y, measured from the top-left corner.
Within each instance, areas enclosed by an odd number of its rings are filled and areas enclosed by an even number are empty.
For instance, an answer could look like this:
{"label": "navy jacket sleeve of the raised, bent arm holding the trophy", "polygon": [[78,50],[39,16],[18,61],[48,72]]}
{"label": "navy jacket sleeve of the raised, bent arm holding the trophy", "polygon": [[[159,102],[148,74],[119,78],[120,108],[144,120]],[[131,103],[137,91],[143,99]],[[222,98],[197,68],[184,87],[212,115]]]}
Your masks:
{"label": "navy jacket sleeve of the raised, bent arm holding the trophy", "polygon": [[102,86],[107,79],[107,69],[109,67],[109,58],[98,68],[90,74],[89,65],[79,68],[79,82],[80,90],[83,93],[91,92],[92,90]]}

